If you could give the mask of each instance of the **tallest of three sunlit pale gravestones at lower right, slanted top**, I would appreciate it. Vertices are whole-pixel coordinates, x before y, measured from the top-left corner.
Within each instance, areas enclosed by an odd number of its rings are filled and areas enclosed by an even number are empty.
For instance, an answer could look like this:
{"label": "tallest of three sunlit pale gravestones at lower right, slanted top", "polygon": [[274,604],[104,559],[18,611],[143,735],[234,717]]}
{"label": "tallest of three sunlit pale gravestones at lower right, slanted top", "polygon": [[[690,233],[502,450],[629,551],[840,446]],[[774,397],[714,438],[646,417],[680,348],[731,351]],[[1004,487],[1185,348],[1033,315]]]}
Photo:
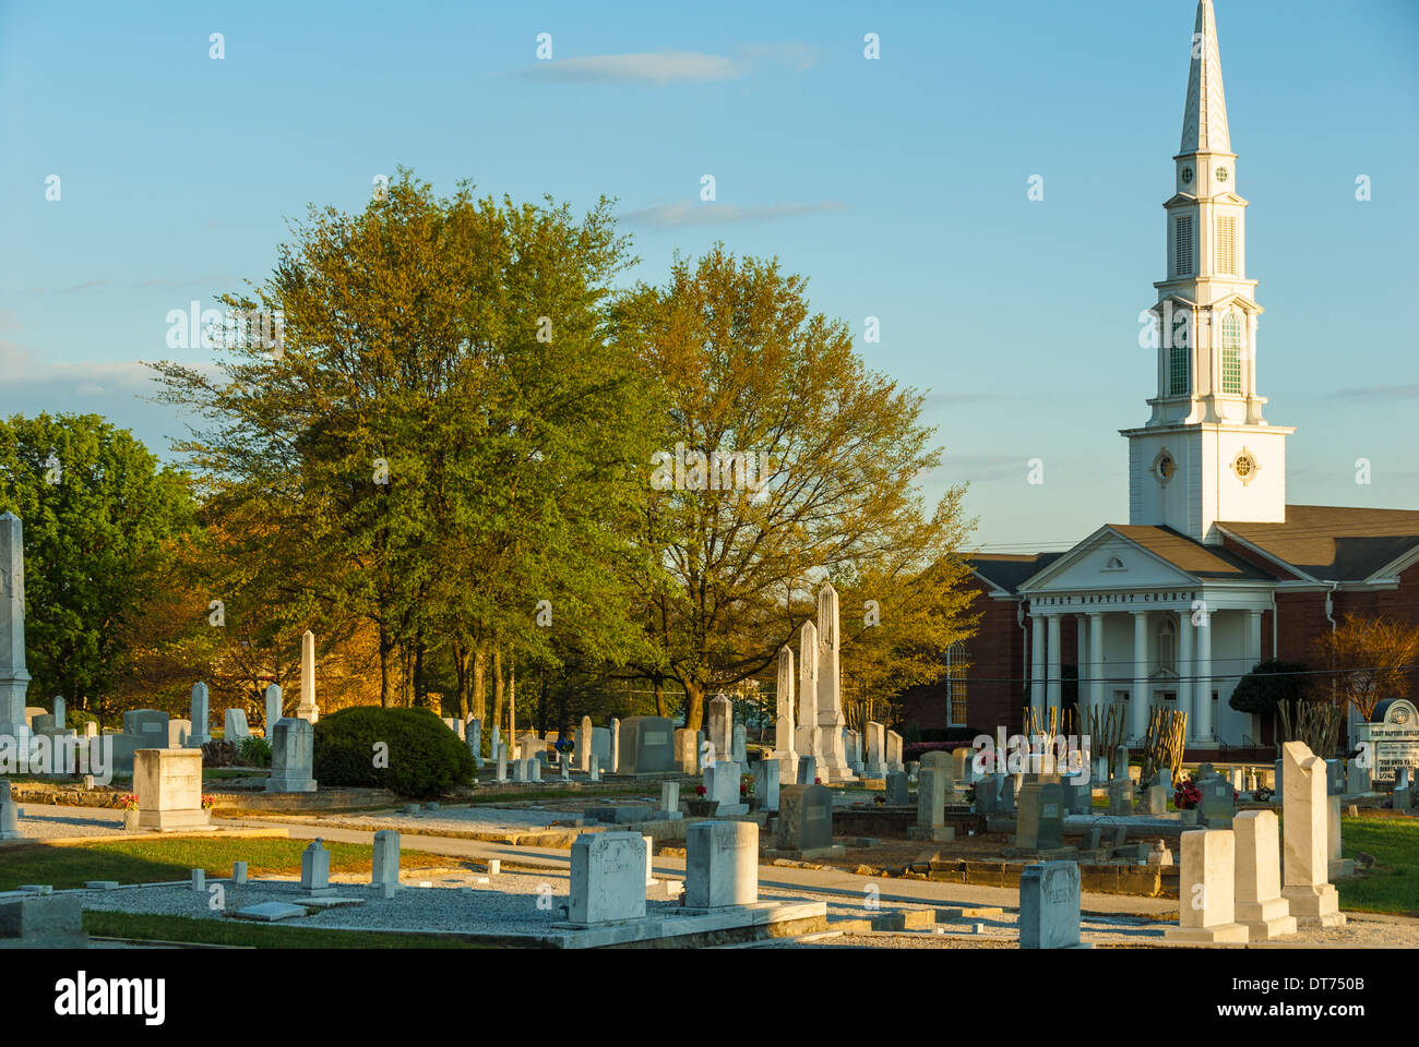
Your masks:
{"label": "tallest of three sunlit pale gravestones at lower right, slanted top", "polygon": [[1286,763],[1286,794],[1281,819],[1286,823],[1286,863],[1281,897],[1291,905],[1300,926],[1345,926],[1340,898],[1330,884],[1327,844],[1325,760],[1304,742],[1281,746]]}

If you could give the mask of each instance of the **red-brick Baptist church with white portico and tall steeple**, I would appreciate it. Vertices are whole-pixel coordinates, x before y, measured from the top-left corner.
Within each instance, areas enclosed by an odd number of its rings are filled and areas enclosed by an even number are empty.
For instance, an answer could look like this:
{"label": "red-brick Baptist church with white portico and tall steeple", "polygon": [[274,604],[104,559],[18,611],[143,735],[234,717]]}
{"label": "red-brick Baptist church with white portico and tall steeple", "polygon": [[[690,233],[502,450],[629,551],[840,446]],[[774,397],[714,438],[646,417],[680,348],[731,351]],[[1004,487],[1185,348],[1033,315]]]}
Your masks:
{"label": "red-brick Baptist church with white portico and tall steeple", "polygon": [[[1264,416],[1261,305],[1246,264],[1212,0],[1198,4],[1182,145],[1154,284],[1156,390],[1128,441],[1128,524],[1064,553],[971,558],[981,630],[942,682],[907,698],[920,728],[1020,729],[1023,707],[1188,714],[1188,749],[1271,759],[1270,716],[1227,699],[1269,658],[1305,661],[1341,614],[1419,621],[1419,511],[1288,505],[1286,440]],[[1087,721],[1086,721],[1087,722]]]}

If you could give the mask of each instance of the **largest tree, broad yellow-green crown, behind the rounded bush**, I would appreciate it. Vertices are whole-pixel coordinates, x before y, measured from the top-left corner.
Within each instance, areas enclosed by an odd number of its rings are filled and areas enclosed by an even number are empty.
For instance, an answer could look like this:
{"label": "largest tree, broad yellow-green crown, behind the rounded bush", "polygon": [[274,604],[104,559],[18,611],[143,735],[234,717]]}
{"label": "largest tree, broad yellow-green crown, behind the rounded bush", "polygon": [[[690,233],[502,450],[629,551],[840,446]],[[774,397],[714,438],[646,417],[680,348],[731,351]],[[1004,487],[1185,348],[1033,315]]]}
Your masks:
{"label": "largest tree, broad yellow-green crown, behind the rounded bush", "polygon": [[280,311],[281,345],[155,365],[213,423],[182,445],[213,519],[267,521],[240,583],[326,630],[370,623],[385,705],[421,698],[436,658],[468,708],[474,663],[555,661],[551,630],[597,657],[637,638],[613,572],[634,549],[607,526],[648,438],[606,308],[629,261],[606,200],[578,220],[400,172],[363,211],[312,207],[271,278],[224,299]]}

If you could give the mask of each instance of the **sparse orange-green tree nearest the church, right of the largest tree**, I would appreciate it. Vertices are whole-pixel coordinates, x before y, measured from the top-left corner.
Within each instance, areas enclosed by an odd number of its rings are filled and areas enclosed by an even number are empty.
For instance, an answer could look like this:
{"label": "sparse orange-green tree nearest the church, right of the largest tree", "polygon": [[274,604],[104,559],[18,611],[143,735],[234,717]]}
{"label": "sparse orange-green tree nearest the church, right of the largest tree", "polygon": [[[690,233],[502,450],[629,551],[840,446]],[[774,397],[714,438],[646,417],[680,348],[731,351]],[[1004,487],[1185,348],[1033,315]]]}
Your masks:
{"label": "sparse orange-green tree nearest the church, right of the largest tree", "polygon": [[843,594],[860,699],[939,675],[972,626],[954,592],[971,525],[961,488],[935,506],[920,492],[941,461],[922,397],[870,370],[846,325],[812,312],[800,277],[722,245],[637,287],[620,322],[660,397],[634,521],[650,560],[636,576],[656,644],[646,675],[683,685],[687,725],[707,689],[797,646],[824,580]]}

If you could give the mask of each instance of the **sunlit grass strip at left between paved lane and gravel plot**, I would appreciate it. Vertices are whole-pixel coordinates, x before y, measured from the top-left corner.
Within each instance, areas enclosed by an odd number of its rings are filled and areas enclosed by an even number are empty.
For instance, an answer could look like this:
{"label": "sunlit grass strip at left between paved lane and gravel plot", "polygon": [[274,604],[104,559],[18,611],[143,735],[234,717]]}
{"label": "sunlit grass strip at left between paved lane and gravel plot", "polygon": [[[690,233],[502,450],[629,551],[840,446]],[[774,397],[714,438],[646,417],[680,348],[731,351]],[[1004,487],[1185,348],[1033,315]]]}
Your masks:
{"label": "sunlit grass strip at left between paved lane and gravel plot", "polygon": [[[301,851],[307,840],[280,837],[214,838],[176,836],[162,840],[115,840],[105,843],[54,847],[21,844],[6,847],[0,858],[0,891],[20,884],[53,884],[57,890],[84,887],[88,880],[116,880],[121,884],[152,884],[186,880],[192,870],[206,870],[211,877],[230,877],[233,861],[245,861],[253,875],[301,871]],[[331,872],[369,872],[373,848],[328,840]],[[463,858],[427,851],[406,850],[403,868],[457,868]],[[471,865],[470,865],[471,867]]]}

